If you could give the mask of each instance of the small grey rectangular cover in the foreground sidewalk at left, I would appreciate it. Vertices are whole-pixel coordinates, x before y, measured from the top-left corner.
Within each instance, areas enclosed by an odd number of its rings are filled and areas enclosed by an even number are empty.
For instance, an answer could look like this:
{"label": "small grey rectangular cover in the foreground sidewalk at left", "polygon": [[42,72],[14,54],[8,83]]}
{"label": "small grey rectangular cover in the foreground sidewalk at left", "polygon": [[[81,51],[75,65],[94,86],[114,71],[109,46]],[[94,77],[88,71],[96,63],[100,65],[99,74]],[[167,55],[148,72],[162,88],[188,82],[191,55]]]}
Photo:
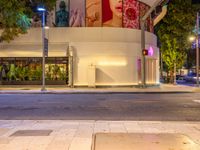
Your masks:
{"label": "small grey rectangular cover in the foreground sidewalk at left", "polygon": [[49,136],[52,130],[18,130],[10,136]]}

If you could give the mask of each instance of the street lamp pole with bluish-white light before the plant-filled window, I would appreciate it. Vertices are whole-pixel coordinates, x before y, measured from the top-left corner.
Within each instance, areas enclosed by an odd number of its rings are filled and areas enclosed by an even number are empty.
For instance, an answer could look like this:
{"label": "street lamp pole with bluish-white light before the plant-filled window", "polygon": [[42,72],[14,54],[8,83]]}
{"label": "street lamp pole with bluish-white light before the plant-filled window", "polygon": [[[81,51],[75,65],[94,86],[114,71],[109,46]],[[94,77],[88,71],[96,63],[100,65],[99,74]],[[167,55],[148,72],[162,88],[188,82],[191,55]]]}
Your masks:
{"label": "street lamp pole with bluish-white light before the plant-filled window", "polygon": [[41,91],[46,91],[45,88],[45,11],[42,13],[42,44],[43,44],[43,52],[42,52],[42,89]]}

